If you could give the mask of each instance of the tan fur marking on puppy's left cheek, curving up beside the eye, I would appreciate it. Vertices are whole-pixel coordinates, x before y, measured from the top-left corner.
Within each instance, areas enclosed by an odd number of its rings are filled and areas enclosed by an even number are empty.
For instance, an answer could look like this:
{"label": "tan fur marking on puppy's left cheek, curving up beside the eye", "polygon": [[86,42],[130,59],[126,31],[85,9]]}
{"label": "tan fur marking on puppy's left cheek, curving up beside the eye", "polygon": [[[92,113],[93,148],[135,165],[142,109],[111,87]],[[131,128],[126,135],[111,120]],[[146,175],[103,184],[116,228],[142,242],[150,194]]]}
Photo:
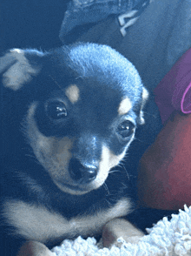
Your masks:
{"label": "tan fur marking on puppy's left cheek, curving up beside the eye", "polygon": [[37,104],[31,104],[27,122],[27,135],[30,145],[36,155],[37,160],[43,165],[45,170],[49,172],[53,181],[65,180],[70,183],[71,179],[68,172],[69,160],[72,157],[70,149],[73,141],[71,138],[55,138],[46,137],[41,133],[36,125],[34,114]]}

